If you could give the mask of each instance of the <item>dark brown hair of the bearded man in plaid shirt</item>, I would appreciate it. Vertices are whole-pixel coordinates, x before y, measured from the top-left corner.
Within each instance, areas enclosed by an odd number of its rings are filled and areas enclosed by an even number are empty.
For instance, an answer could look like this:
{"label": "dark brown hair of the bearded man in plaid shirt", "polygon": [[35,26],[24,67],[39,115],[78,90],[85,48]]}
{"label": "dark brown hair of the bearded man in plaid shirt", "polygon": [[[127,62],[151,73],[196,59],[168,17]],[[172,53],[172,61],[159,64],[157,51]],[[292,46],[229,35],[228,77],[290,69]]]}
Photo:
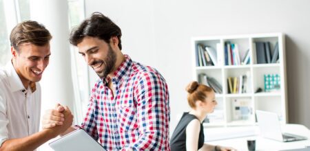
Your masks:
{"label": "dark brown hair of the bearded man in plaid shirt", "polygon": [[121,45],[121,28],[111,21],[107,16],[100,12],[92,13],[90,19],[85,19],[78,27],[72,30],[70,35],[70,43],[78,45],[85,36],[92,36],[105,40],[105,43],[110,43],[112,36],[117,36],[118,47],[122,49]]}

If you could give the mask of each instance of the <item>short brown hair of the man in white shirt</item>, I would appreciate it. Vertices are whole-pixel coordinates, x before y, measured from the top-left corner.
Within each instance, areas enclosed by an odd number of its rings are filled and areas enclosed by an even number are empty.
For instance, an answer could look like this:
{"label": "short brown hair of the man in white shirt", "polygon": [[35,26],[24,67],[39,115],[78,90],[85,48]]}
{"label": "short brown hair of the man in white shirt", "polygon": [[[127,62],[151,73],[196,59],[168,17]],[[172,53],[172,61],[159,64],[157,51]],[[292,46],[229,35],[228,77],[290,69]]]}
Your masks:
{"label": "short brown hair of the man in white shirt", "polygon": [[11,46],[17,51],[18,46],[22,43],[32,43],[34,45],[43,46],[50,42],[52,35],[44,25],[37,23],[37,21],[23,21],[17,24],[11,34]]}

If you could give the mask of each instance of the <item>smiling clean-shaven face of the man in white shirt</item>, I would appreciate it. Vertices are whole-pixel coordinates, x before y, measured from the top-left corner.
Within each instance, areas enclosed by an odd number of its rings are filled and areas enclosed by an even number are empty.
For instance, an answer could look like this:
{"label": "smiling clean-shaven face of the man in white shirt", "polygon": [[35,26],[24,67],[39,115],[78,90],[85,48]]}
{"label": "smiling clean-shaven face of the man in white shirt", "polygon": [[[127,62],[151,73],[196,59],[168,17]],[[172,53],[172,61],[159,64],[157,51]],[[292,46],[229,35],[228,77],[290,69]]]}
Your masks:
{"label": "smiling clean-shaven face of the man in white shirt", "polygon": [[18,47],[19,51],[11,48],[12,62],[21,82],[25,88],[30,82],[39,82],[43,71],[50,60],[50,43],[37,46],[32,43],[23,43]]}

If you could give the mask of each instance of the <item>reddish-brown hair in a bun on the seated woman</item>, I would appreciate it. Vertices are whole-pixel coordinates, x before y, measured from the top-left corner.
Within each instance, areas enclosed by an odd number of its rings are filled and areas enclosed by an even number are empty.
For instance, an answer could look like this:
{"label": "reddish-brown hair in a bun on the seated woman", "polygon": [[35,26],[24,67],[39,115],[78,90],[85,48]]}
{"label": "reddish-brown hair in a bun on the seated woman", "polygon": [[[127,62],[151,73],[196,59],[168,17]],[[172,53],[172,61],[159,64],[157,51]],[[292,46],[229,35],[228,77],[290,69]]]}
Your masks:
{"label": "reddish-brown hair in a bun on the seated woman", "polygon": [[198,84],[198,82],[193,81],[187,85],[186,91],[188,92],[187,101],[189,106],[196,108],[195,102],[198,100],[204,101],[205,98],[207,98],[205,92],[211,92],[213,89],[211,89],[209,86]]}

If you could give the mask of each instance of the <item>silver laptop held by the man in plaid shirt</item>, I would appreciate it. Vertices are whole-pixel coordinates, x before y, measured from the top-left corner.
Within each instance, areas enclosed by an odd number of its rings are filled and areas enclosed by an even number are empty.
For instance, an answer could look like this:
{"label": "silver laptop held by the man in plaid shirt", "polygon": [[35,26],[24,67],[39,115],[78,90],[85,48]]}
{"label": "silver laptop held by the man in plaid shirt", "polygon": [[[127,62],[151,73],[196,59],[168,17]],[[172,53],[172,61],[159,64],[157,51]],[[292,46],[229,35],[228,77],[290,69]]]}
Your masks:
{"label": "silver laptop held by the man in plaid shirt", "polygon": [[105,151],[98,141],[93,139],[83,129],[77,129],[63,137],[49,143],[50,147],[55,151],[85,151],[98,150]]}

